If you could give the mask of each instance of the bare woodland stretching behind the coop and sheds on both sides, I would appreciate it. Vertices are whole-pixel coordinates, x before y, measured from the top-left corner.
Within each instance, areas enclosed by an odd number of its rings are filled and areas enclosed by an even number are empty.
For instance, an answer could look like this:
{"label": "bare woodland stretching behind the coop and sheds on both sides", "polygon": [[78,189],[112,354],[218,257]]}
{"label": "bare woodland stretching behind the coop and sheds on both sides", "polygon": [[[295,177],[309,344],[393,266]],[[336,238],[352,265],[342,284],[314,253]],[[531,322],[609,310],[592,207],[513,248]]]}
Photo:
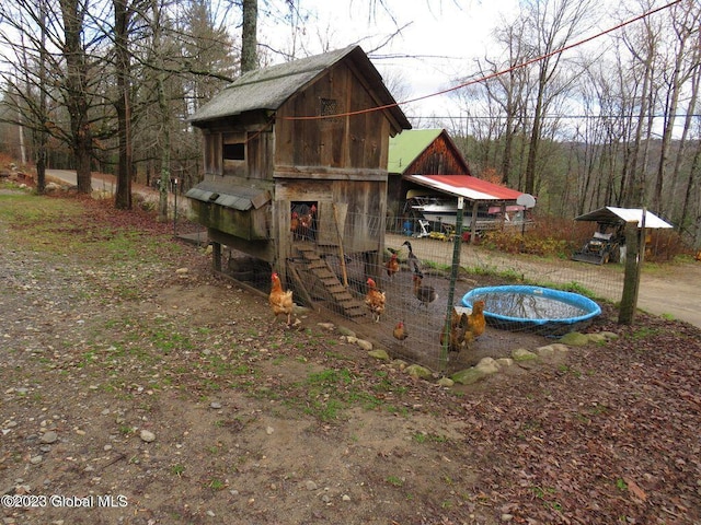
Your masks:
{"label": "bare woodland stretching behind the coop and sheds on both sides", "polygon": [[[301,38],[303,3],[240,0],[223,13],[206,0],[3,2],[0,152],[37,170],[77,170],[83,190],[91,172],[116,174],[120,208],[135,180],[176,177],[187,189],[202,176],[187,117],[241,71],[302,58],[303,46],[274,49],[255,27],[277,16]],[[597,34],[599,3],[520,2],[490,56],[455,79],[455,110],[407,117],[447,129],[475,176],[537,196],[540,215],[646,207],[698,247],[701,4],[628,0]],[[358,16],[388,9],[363,7]],[[382,72],[381,49],[366,51]],[[406,86],[386,82],[401,102]]]}

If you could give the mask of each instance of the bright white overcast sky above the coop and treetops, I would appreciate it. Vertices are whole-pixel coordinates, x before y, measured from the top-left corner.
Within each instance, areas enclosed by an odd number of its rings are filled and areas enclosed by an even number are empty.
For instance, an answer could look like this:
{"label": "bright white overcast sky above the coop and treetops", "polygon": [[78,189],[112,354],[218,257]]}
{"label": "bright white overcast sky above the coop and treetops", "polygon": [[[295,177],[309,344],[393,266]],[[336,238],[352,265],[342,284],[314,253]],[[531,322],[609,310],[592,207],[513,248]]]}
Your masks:
{"label": "bright white overcast sky above the coop and treetops", "polygon": [[[668,1],[650,0],[650,3],[662,7]],[[281,19],[288,13],[285,0],[267,0],[261,2],[265,12],[258,18],[258,42],[272,49],[292,52],[296,58],[359,44],[398,102],[427,97],[402,105],[407,116],[455,116],[451,94],[430,95],[456,86],[456,79],[475,78],[478,59],[484,61],[490,57],[496,62],[503,61],[499,57],[503,46],[494,44],[493,35],[497,27],[513,23],[520,2],[522,0],[297,0],[300,12],[308,19],[302,31],[294,31],[289,20]],[[643,12],[641,3],[644,2],[595,1],[595,9],[589,11],[593,25],[578,27],[583,34],[577,39],[634,19]],[[607,16],[607,10],[612,14]],[[390,38],[393,34],[397,35]],[[574,57],[578,52],[600,52],[610,42],[610,37],[602,36],[565,54]],[[275,62],[284,60],[280,55],[271,57],[275,57]],[[403,86],[399,92],[393,89],[398,81]]]}

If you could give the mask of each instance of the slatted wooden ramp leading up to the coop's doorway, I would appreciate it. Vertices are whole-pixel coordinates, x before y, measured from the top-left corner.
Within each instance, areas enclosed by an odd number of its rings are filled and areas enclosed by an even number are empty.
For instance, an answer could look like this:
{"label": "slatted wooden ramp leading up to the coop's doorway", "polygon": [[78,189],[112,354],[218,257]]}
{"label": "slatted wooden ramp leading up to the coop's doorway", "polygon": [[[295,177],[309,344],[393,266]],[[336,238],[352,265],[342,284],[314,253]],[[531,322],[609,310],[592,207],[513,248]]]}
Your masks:
{"label": "slatted wooden ramp leading up to the coop's doorway", "polygon": [[299,254],[298,262],[292,262],[292,271],[297,287],[303,289],[307,299],[314,303],[323,303],[329,310],[356,322],[368,317],[365,304],[356,299],[329,264],[319,256],[312,245],[300,244],[295,247]]}

